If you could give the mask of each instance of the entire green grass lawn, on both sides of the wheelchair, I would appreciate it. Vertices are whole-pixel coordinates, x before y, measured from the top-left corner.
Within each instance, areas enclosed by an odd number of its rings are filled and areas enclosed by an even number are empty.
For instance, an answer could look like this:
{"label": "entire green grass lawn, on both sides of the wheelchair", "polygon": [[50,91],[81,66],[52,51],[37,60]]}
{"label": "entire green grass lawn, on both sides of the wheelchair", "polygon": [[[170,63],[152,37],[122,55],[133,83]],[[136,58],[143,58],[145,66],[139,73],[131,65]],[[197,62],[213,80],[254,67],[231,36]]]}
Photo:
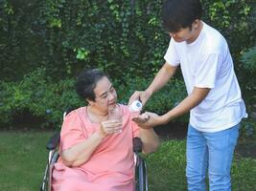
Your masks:
{"label": "entire green grass lawn, on both sides of the wheelchair", "polygon": [[[0,190],[36,191],[47,160],[50,132],[0,133]],[[148,157],[150,191],[186,190],[185,140],[162,143]],[[256,191],[256,159],[236,155],[232,166],[233,191]]]}

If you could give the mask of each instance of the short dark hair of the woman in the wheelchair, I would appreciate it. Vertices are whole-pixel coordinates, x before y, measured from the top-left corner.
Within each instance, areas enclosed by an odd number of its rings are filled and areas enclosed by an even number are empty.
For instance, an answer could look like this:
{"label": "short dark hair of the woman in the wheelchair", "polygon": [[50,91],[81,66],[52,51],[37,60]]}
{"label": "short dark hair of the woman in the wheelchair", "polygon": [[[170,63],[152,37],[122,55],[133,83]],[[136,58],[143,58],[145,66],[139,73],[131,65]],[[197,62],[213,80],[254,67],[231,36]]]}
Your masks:
{"label": "short dark hair of the woman in the wheelchair", "polygon": [[83,70],[77,77],[76,90],[79,96],[84,99],[95,101],[94,89],[96,84],[107,75],[100,69]]}

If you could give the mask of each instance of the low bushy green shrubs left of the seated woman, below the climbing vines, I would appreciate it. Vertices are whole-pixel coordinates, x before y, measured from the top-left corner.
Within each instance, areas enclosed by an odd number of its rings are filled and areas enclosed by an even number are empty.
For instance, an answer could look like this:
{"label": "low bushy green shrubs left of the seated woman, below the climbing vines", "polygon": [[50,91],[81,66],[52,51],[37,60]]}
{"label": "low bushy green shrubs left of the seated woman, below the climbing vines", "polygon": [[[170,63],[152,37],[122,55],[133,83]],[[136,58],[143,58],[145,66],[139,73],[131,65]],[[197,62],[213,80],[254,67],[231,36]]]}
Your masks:
{"label": "low bushy green shrubs left of the seated woman, below the climbing vines", "polygon": [[63,111],[81,105],[76,93],[70,91],[73,84],[73,79],[55,82],[41,68],[18,82],[2,82],[0,123],[12,125],[14,117],[29,113],[32,118],[43,118],[41,126],[59,124]]}

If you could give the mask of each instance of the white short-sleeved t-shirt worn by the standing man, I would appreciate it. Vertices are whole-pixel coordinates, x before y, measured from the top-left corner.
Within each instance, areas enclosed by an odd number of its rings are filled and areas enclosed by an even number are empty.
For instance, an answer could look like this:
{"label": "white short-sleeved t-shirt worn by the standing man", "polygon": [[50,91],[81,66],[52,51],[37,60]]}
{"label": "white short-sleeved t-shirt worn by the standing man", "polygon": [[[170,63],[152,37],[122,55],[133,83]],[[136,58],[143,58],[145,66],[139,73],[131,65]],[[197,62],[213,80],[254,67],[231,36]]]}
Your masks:
{"label": "white short-sleeved t-shirt worn by the standing man", "polygon": [[228,129],[247,116],[233,60],[220,32],[203,23],[190,44],[172,38],[164,58],[172,66],[180,65],[188,95],[194,87],[211,89],[190,111],[190,124],[198,131]]}

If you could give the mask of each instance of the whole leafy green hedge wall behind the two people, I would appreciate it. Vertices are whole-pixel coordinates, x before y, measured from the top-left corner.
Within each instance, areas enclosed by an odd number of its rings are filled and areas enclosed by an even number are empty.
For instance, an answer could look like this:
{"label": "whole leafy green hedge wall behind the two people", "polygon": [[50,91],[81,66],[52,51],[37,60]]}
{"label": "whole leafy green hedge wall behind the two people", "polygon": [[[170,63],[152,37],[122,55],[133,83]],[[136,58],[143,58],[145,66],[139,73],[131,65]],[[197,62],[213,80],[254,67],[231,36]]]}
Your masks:
{"label": "whole leafy green hedge wall behind the two people", "polygon": [[[203,20],[230,45],[245,102],[253,110],[255,1],[201,1]],[[24,113],[58,123],[65,108],[83,104],[73,89],[74,76],[83,68],[104,69],[117,84],[120,100],[128,102],[163,64],[170,36],[161,26],[162,2],[1,0],[0,123],[10,124]],[[179,76],[151,99],[147,110],[164,113],[185,96]]]}

